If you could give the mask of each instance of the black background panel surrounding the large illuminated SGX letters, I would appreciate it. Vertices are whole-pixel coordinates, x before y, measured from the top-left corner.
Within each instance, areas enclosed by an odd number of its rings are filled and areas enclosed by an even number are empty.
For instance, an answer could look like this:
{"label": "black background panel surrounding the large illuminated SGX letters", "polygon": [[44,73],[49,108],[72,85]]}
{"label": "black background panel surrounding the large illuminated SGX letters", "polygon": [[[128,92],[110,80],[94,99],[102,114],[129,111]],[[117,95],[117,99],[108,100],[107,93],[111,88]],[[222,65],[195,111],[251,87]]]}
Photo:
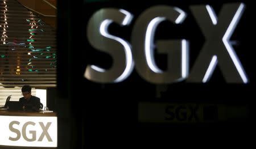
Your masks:
{"label": "black background panel surrounding the large illuminated SGX letters", "polygon": [[[98,52],[86,39],[89,18],[100,8],[123,8],[134,15],[129,27],[112,24],[109,32],[131,41],[135,20],[154,5],[176,6],[187,12],[181,25],[161,23],[157,39],[188,39],[189,70],[204,42],[204,35],[189,10],[191,5],[211,5],[216,14],[224,3],[243,2],[246,9],[230,40],[250,80],[248,84],[228,84],[218,66],[208,83],[178,82],[156,97],[156,85],[143,80],[136,70],[121,83],[100,84],[84,78],[88,64],[110,67],[112,58]],[[139,4],[140,3],[140,4]],[[171,148],[226,147],[253,143],[255,134],[255,5],[252,1],[58,1],[57,22],[57,112],[59,148]],[[166,57],[155,57],[164,69]],[[135,64],[136,65],[136,64]],[[142,101],[179,104],[214,104],[246,107],[248,113],[232,120],[199,123],[141,123],[138,104]],[[229,110],[226,108],[226,110]],[[239,109],[237,110],[239,111]],[[239,113],[239,112],[237,112]],[[234,112],[236,115],[236,112]]]}

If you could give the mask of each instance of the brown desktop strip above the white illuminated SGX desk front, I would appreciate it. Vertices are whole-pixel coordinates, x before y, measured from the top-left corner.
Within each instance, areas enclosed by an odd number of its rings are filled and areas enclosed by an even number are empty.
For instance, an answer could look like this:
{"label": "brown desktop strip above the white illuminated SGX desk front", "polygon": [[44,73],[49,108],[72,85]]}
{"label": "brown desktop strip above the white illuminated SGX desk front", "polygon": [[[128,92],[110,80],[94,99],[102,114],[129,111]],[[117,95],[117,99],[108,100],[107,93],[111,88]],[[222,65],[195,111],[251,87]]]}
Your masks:
{"label": "brown desktop strip above the white illuminated SGX desk front", "polygon": [[56,113],[40,113],[40,112],[25,112],[25,111],[9,111],[0,110],[0,116],[45,116],[45,117],[55,117]]}

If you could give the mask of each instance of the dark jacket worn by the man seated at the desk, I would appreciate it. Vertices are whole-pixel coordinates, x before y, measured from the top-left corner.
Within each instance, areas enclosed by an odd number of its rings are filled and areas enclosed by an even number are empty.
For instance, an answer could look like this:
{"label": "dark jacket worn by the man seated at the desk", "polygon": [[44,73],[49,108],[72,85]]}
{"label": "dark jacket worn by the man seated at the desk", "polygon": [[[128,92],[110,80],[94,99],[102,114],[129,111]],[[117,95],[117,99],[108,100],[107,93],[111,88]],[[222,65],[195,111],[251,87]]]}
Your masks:
{"label": "dark jacket worn by the man seated at the desk", "polygon": [[25,110],[38,111],[40,108],[40,98],[36,96],[31,96],[30,100],[28,101],[24,97],[21,97],[19,102],[25,106]]}

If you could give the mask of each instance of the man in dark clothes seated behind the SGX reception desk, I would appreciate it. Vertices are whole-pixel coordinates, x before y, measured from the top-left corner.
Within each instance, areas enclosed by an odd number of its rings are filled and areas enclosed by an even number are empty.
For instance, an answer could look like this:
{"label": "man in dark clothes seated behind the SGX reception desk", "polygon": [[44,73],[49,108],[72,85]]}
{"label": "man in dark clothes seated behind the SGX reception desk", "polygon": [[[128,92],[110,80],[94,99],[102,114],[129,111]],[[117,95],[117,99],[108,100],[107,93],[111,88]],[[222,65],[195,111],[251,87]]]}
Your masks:
{"label": "man in dark clothes seated behind the SGX reception desk", "polygon": [[22,95],[19,102],[23,105],[23,110],[39,111],[40,99],[39,97],[31,95],[31,86],[25,85],[22,87]]}

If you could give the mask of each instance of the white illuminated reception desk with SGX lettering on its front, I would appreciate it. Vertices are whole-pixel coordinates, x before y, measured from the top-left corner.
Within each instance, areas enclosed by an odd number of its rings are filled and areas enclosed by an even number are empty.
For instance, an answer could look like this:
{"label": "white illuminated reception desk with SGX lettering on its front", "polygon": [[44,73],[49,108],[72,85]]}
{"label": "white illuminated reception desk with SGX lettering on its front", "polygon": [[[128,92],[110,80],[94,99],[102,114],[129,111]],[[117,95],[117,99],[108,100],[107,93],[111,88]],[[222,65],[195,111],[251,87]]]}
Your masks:
{"label": "white illuminated reception desk with SGX lettering on its front", "polygon": [[56,147],[56,113],[0,110],[0,148]]}

